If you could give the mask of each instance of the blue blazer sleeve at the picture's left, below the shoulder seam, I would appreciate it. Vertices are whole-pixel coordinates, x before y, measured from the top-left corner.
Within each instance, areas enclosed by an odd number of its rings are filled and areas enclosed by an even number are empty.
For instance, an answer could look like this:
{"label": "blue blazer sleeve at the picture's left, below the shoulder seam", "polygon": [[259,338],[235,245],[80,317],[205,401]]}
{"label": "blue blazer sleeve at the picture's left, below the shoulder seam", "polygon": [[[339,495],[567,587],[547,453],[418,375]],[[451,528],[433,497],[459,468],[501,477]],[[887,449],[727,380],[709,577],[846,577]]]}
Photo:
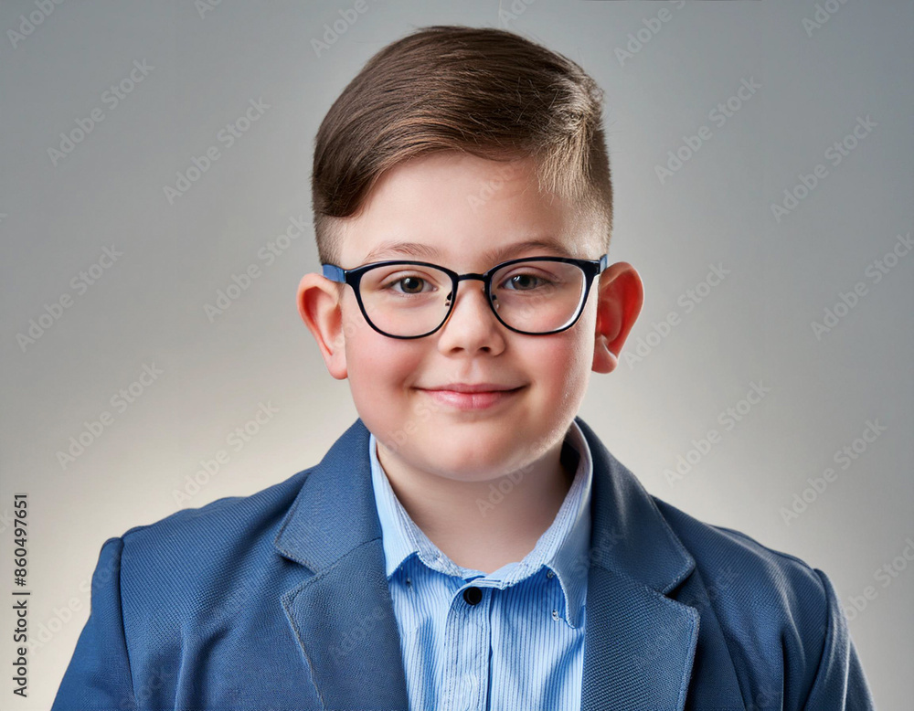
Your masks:
{"label": "blue blazer sleeve at the picture's left, below the shoulder seam", "polygon": [[122,538],[109,538],[101,547],[92,574],[89,621],[51,711],[135,711],[137,707],[123,632],[122,552]]}

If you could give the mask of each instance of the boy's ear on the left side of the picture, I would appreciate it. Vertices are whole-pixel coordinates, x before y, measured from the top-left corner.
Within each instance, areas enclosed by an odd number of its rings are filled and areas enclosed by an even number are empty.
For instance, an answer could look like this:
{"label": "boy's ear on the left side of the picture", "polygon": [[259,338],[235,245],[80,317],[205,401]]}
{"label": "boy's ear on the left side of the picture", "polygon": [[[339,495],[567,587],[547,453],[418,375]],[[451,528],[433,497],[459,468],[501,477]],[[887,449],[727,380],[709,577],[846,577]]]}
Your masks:
{"label": "boy's ear on the left side of the picture", "polygon": [[348,372],[340,296],[335,281],[321,274],[305,274],[298,284],[298,313],[314,335],[330,375],[344,380]]}

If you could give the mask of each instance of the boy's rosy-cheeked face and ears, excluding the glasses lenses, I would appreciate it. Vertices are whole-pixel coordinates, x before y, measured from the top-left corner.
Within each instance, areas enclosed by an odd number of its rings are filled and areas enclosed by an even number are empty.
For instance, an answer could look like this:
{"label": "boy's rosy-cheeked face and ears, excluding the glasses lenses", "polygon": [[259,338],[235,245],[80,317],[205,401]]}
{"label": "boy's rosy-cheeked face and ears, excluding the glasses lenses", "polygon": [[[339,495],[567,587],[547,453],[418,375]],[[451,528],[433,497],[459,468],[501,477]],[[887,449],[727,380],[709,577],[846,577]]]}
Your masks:
{"label": "boy's rosy-cheeked face and ears, excluding the glasses lenses", "polygon": [[[520,257],[597,260],[602,254],[590,222],[576,218],[558,197],[550,201],[537,192],[530,161],[504,164],[450,153],[414,158],[383,175],[365,209],[344,224],[344,269],[403,259],[483,273]],[[512,249],[528,240],[555,246]],[[386,247],[396,242],[420,244],[430,253]],[[504,252],[484,260],[495,249]],[[350,287],[338,300],[336,293],[337,284],[306,275],[300,312],[330,373],[349,379],[359,417],[390,451],[385,457],[476,482],[531,466],[561,446],[591,368],[609,372],[616,365],[642,302],[637,272],[621,262],[604,271],[599,287],[592,284],[571,328],[518,334],[495,318],[483,282],[467,280],[439,331],[401,340],[367,324]],[[465,409],[447,393],[430,392],[453,383],[516,389],[488,407]]]}

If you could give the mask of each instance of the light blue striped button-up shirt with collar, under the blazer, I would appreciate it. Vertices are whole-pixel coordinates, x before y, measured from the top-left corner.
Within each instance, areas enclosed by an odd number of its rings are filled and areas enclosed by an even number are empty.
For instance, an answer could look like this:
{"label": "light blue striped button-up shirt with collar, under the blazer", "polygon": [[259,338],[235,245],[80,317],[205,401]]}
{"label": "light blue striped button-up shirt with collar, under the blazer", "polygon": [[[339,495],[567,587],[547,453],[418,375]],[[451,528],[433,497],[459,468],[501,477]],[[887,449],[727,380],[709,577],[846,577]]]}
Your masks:
{"label": "light blue striped button-up shirt with collar, under the blazer", "polygon": [[562,462],[577,468],[558,515],[523,560],[488,575],[458,566],[412,521],[376,446],[371,435],[371,483],[411,711],[577,711],[593,478],[578,424],[562,451]]}

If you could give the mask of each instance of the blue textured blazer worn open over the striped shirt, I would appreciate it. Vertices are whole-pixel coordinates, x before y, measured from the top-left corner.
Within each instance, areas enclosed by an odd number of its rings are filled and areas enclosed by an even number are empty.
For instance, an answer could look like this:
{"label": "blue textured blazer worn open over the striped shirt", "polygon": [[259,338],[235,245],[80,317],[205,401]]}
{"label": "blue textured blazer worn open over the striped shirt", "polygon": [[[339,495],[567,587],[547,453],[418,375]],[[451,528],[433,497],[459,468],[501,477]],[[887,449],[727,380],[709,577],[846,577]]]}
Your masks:
{"label": "blue textured blazer worn open over the striped shirt", "polygon": [[[649,495],[576,421],[593,455],[582,709],[873,707],[824,573]],[[283,483],[106,541],[67,709],[408,709],[361,419]]]}

